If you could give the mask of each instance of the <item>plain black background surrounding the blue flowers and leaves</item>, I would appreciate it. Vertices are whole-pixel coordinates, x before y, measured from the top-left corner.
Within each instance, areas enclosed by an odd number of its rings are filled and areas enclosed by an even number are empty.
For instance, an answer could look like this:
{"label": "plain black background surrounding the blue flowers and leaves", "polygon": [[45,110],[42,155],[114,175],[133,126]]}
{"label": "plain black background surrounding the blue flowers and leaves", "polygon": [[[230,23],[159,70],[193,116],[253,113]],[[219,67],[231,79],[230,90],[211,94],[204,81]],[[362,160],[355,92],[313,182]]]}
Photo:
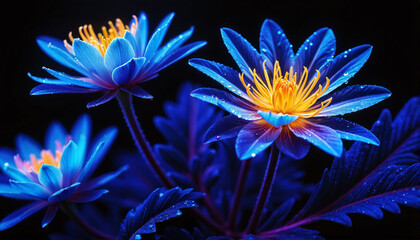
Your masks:
{"label": "plain black background surrounding the blue flowers and leaves", "polygon": [[[371,57],[350,84],[381,85],[391,90],[392,96],[368,110],[346,116],[367,128],[383,108],[389,108],[395,115],[410,97],[420,94],[419,1],[44,0],[3,1],[1,9],[0,146],[14,147],[14,137],[18,133],[43,141],[45,130],[52,120],[61,121],[70,128],[80,114],[87,112],[92,117],[96,133],[109,125],[120,127],[113,149],[134,149],[116,101],[86,109],[86,103],[99,95],[30,96],[30,90],[37,83],[27,73],[47,77],[42,66],[71,73],[38,48],[35,42],[37,36],[51,35],[65,39],[69,31],[77,32],[80,25],[90,23],[99,30],[108,20],[117,17],[128,23],[131,16],[139,11],[148,14],[150,30],[166,14],[175,12],[167,40],[194,25],[195,32],[189,42],[206,40],[208,44],[187,59],[202,57],[232,67],[236,67],[235,63],[223,45],[219,29],[232,28],[257,48],[259,30],[266,18],[273,19],[283,28],[295,51],[310,34],[325,26],[335,33],[337,54],[360,44],[373,45]],[[139,120],[152,143],[162,141],[153,126],[153,116],[163,114],[163,101],[174,100],[175,90],[182,82],[190,80],[219,87],[215,81],[190,67],[187,59],[163,70],[157,79],[144,85],[154,100],[136,99],[134,102]],[[325,154],[320,156],[322,160],[309,164],[309,180],[319,180],[322,170],[330,166],[331,158]],[[14,205],[11,201],[3,203],[0,217],[15,209]],[[386,213],[381,221],[356,216],[352,228],[333,223],[318,223],[312,227],[321,230],[328,239],[346,239],[343,236],[349,236],[348,239],[419,238],[420,212],[402,209],[401,215]],[[62,220],[66,219],[62,214],[57,217],[47,229],[40,230],[41,217],[38,215],[20,226],[0,232],[0,238],[22,234],[22,237],[45,237],[47,231],[59,229]]]}

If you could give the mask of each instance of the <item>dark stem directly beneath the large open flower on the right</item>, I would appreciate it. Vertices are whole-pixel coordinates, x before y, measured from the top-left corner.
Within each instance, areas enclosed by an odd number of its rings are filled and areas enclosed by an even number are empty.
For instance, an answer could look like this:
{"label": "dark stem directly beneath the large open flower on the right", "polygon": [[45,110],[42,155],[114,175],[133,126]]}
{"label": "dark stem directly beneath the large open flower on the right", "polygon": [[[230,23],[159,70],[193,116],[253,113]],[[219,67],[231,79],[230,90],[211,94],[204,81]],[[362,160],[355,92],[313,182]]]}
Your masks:
{"label": "dark stem directly beneath the large open flower on the right", "polygon": [[267,170],[265,172],[264,181],[261,185],[260,193],[257,198],[257,203],[255,204],[254,211],[249,220],[248,226],[246,228],[246,233],[255,234],[257,231],[258,223],[260,221],[261,215],[263,213],[265,204],[270,195],[270,190],[274,182],[274,176],[276,175],[277,166],[279,163],[279,150],[273,144],[271,146],[270,158],[268,160]]}

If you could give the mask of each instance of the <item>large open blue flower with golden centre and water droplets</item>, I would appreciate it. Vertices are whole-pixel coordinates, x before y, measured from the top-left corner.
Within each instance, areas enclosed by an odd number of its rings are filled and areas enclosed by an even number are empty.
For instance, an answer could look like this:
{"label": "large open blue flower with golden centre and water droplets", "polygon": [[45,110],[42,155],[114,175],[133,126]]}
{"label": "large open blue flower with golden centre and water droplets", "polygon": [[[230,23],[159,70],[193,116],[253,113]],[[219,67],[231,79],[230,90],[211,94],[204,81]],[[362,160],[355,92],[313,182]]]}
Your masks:
{"label": "large open blue flower with golden centre and water droplets", "polygon": [[229,28],[221,33],[241,73],[204,59],[189,62],[234,93],[210,88],[193,91],[192,96],[232,114],[209,129],[207,141],[237,136],[241,159],[255,156],[273,142],[293,158],[304,157],[309,143],[334,156],[342,153],[341,138],[379,144],[367,129],[335,117],[390,96],[387,89],[373,85],[333,91],[363,66],[371,46],[357,46],[334,57],[334,34],[321,28],[294,54],[284,31],[268,19],[261,27],[260,52]]}

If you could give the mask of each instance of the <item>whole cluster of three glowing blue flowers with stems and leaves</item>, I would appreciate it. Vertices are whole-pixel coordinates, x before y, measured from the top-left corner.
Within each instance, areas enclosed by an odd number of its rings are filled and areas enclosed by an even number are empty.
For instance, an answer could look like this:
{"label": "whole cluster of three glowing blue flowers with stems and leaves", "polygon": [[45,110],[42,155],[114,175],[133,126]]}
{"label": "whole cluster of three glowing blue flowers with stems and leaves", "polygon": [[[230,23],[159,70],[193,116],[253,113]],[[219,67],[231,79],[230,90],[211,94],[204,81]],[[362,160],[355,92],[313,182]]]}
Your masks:
{"label": "whole cluster of three glowing blue flowers with stems and leaves", "polygon": [[[315,31],[297,52],[270,19],[261,27],[259,51],[222,28],[238,70],[200,58],[189,64],[230,92],[184,84],[176,102],[164,104],[165,116],[154,118],[166,142],[149,143],[132,96],[152,98],[139,85],[206,44],[184,45],[193,27],[163,44],[173,17],[164,17],[152,34],[141,12],[128,25],[116,19],[100,31],[81,26],[63,41],[37,39],[78,76],[44,67],[54,78],[28,74],[41,83],[31,94],[101,92],[88,108],[116,98],[138,152],[116,152],[111,165],[117,170],[95,176],[117,128],[91,139],[87,114],[71,131],[53,122],[44,144],[18,135],[16,150],[0,148],[0,196],[30,203],[2,218],[0,231],[41,210],[45,228],[61,208],[73,221],[52,239],[323,239],[307,225],[350,226],[349,213],[381,219],[383,210],[400,213],[399,205],[420,208],[420,98],[394,119],[384,110],[371,130],[338,117],[391,93],[346,85],[372,46],[335,56],[329,28]],[[342,139],[355,143],[345,149]],[[310,144],[334,157],[317,184],[304,181],[305,161],[295,161],[311,155]],[[75,205],[93,201],[100,207]],[[168,221],[181,215],[177,224]]]}

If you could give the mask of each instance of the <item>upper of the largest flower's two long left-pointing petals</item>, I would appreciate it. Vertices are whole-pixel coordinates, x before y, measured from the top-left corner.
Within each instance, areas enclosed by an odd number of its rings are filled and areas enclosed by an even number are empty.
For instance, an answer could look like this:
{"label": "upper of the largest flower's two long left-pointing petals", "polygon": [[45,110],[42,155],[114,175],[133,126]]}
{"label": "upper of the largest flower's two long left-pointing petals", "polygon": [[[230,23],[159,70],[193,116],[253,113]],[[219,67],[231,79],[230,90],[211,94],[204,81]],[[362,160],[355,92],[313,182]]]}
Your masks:
{"label": "upper of the largest flower's two long left-pointing petals", "polygon": [[[250,100],[246,92],[244,92],[245,88],[239,79],[238,71],[223,64],[199,58],[190,59],[188,63],[207,76],[218,81],[239,97]],[[245,84],[250,83],[247,78],[244,78],[244,81]]]}

